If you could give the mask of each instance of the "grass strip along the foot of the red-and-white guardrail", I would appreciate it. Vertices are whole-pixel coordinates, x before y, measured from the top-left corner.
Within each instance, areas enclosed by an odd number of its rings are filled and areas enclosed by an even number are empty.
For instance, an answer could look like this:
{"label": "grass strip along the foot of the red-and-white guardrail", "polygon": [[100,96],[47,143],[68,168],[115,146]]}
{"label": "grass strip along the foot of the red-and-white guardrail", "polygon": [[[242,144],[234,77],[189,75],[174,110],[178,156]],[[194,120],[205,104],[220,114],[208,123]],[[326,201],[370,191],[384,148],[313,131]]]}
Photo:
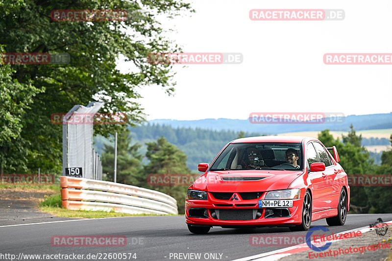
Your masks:
{"label": "grass strip along the foot of the red-and-white guardrail", "polygon": [[79,217],[79,218],[100,218],[100,217],[118,217],[118,216],[148,216],[159,214],[128,214],[119,212],[105,212],[105,211],[88,211],[88,210],[69,210],[61,207],[61,195],[53,195],[46,197],[44,201],[39,204],[39,209],[42,212],[47,212],[55,216],[61,217]]}

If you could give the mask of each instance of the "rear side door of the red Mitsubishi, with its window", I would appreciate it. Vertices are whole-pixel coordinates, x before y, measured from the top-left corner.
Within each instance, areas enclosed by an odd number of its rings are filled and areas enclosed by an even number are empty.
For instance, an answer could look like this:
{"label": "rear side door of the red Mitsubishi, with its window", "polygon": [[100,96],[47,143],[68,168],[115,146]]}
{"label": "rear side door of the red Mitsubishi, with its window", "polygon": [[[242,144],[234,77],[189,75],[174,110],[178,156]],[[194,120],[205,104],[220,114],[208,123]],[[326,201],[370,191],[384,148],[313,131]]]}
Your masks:
{"label": "rear side door of the red Mitsubishi, with its window", "polygon": [[[313,142],[315,145],[317,154],[319,155],[320,162],[325,164],[325,171],[324,173],[327,175],[326,182],[328,184],[328,208],[334,208],[331,202],[339,201],[340,196],[340,185],[339,182],[335,179],[336,177],[336,170],[335,165],[332,162],[332,159],[329,157],[327,151],[325,150],[324,146],[321,145],[319,142]],[[338,197],[338,198],[336,198]]]}

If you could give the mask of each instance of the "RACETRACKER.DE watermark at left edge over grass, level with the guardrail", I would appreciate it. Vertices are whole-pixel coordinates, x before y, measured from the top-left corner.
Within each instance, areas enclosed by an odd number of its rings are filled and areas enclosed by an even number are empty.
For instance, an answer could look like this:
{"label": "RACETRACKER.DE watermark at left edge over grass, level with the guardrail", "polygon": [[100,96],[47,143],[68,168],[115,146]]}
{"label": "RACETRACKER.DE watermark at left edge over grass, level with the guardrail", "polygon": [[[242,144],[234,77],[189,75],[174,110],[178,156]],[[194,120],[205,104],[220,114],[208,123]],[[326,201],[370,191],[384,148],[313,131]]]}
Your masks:
{"label": "RACETRACKER.DE watermark at left edge over grass, level with the guardrail", "polygon": [[1,174],[1,185],[52,185],[53,174]]}

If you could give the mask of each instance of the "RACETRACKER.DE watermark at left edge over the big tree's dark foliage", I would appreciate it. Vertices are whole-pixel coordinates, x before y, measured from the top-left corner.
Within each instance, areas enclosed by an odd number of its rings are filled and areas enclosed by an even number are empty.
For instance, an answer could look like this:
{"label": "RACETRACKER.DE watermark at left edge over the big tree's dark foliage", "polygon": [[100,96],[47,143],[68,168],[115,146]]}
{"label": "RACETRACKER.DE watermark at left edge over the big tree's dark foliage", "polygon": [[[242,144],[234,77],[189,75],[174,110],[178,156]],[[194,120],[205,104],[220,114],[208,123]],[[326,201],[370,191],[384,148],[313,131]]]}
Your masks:
{"label": "RACETRACKER.DE watermark at left edge over the big tree's dark foliage", "polygon": [[0,64],[69,64],[70,54],[47,52],[4,52],[0,53]]}

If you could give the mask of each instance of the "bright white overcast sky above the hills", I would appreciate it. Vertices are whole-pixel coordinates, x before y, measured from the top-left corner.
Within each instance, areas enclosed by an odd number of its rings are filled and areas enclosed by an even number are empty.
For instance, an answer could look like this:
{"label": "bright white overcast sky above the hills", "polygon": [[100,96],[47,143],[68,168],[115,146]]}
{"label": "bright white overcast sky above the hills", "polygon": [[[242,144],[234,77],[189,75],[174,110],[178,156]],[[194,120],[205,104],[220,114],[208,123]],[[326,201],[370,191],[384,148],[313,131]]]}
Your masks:
{"label": "bright white overcast sky above the hills", "polygon": [[[251,112],[389,113],[392,65],[325,65],[324,53],[392,53],[390,0],[196,0],[162,21],[184,52],[242,64],[174,65],[175,95],[141,91],[147,119],[247,119]],[[251,21],[250,9],[343,9],[343,21]]]}

